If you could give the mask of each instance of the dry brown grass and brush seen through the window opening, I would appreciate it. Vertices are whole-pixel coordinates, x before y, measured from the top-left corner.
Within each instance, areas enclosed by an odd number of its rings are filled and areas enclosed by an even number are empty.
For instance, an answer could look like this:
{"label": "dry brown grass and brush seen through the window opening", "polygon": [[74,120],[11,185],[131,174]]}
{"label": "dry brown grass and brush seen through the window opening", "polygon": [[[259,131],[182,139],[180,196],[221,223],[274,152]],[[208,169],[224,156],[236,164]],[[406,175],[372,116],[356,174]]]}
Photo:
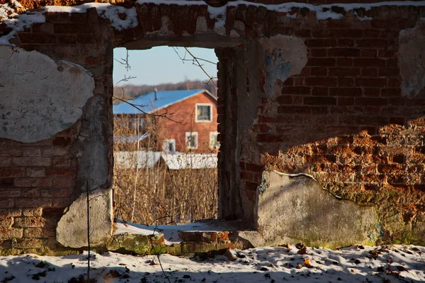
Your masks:
{"label": "dry brown grass and brush seen through the window opening", "polygon": [[[157,118],[164,119],[164,118]],[[128,117],[114,122],[114,151],[128,151],[131,164],[115,162],[115,217],[140,224],[188,223],[198,219],[217,218],[217,168],[168,170],[164,164],[149,167],[135,158],[137,150],[158,149],[162,138],[155,134],[139,144],[118,142],[122,137],[159,133],[156,119],[145,122],[145,128],[129,128]]]}

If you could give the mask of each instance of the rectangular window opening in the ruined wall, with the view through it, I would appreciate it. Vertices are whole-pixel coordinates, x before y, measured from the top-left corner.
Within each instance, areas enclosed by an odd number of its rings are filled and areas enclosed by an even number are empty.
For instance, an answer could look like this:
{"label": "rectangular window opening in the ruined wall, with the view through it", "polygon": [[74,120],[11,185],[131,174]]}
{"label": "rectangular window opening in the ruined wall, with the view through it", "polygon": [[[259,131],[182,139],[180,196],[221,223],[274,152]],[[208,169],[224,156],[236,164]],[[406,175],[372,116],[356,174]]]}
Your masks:
{"label": "rectangular window opening in the ruined wall, with the view through it", "polygon": [[217,217],[217,57],[191,50],[212,81],[184,47],[114,50],[118,219],[184,224]]}

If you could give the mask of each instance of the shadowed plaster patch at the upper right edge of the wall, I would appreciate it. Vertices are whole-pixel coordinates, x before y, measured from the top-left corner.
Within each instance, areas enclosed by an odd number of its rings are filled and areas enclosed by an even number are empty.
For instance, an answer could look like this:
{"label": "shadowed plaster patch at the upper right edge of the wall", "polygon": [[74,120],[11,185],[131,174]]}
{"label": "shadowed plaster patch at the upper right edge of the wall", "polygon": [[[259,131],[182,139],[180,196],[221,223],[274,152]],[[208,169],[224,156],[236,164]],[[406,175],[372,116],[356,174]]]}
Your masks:
{"label": "shadowed plaster patch at the upper right edge of the wall", "polygon": [[400,76],[402,95],[414,98],[425,88],[425,22],[399,33]]}

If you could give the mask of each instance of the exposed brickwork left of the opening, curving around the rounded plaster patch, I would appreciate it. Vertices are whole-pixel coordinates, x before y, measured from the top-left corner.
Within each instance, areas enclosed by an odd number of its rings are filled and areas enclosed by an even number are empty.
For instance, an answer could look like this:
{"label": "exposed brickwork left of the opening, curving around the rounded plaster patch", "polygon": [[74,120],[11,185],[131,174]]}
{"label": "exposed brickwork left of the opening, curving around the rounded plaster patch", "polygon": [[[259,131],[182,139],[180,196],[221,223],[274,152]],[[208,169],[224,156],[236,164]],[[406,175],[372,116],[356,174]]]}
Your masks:
{"label": "exposed brickwork left of the opening, curving around the rounded plaster patch", "polygon": [[[96,149],[97,141],[105,148],[113,142],[113,48],[105,42],[111,28],[99,23],[102,20],[96,11],[72,16],[46,13],[45,17],[46,23],[19,33],[13,43],[89,69],[95,81],[94,98],[72,127],[50,139],[35,143],[0,139],[0,253],[10,248],[15,248],[14,253],[63,250],[56,240],[57,223],[86,182],[90,187],[111,187],[112,166],[106,168],[106,183],[98,184],[94,164],[112,163],[112,152]],[[34,87],[39,86],[35,83]],[[100,159],[94,154],[100,154]]]}

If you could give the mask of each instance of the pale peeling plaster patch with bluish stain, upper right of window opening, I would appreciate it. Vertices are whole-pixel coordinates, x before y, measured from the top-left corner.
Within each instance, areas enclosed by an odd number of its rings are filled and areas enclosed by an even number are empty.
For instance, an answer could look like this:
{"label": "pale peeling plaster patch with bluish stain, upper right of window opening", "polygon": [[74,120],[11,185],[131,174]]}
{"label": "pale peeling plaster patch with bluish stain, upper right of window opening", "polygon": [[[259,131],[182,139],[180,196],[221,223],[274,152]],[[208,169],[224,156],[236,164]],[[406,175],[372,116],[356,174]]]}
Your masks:
{"label": "pale peeling plaster patch with bluish stain, upper right of window opening", "polygon": [[277,92],[277,80],[286,81],[304,69],[307,64],[307,46],[302,38],[288,35],[261,38],[259,41],[266,53],[266,94],[268,98],[273,98]]}

